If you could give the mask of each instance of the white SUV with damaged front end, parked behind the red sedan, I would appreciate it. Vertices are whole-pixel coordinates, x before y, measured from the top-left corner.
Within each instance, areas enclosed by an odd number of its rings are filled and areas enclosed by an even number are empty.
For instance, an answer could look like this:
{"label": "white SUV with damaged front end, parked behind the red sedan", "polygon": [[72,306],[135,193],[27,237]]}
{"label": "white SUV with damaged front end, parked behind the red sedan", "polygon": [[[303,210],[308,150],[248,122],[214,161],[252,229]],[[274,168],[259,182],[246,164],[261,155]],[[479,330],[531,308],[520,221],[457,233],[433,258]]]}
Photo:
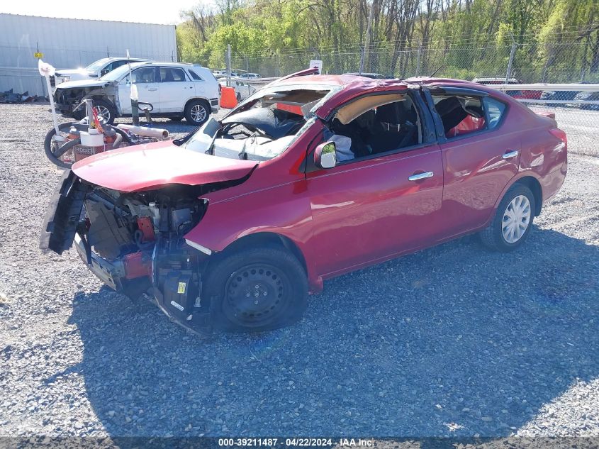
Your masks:
{"label": "white SUV with damaged front end, parked behind the red sedan", "polygon": [[[220,88],[205,67],[179,62],[137,62],[131,70],[139,101],[154,106],[152,117],[185,117],[199,126],[218,111]],[[130,94],[129,68],[122,65],[99,79],[58,85],[54,101],[63,115],[80,120],[84,116],[79,108],[82,101],[93,99],[101,117],[111,124],[116,117],[131,115]]]}

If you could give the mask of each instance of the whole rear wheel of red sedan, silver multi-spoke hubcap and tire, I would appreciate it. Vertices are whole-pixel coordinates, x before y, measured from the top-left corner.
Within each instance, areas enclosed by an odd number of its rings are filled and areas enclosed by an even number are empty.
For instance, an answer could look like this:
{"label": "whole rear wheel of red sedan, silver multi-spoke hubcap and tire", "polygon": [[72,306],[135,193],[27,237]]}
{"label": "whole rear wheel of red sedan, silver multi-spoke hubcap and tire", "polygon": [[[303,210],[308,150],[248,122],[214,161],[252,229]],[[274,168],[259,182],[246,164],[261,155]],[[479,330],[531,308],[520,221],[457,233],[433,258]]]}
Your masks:
{"label": "whole rear wheel of red sedan, silver multi-spoke hubcap and tire", "polygon": [[481,231],[482,243],[506,253],[526,240],[534,219],[534,195],[523,184],[514,184],[501,200],[491,224]]}

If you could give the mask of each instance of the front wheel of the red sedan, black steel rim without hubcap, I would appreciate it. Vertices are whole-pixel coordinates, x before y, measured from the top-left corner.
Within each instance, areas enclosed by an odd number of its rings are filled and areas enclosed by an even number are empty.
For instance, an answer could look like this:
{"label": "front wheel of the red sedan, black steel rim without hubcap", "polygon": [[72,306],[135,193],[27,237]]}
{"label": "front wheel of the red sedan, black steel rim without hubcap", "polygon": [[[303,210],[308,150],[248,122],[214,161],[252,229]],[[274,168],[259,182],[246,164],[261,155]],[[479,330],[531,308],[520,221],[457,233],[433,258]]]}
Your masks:
{"label": "front wheel of the red sedan, black steel rim without hubcap", "polygon": [[306,271],[283,248],[220,255],[208,267],[203,285],[204,296],[211,301],[213,325],[227,332],[289,326],[301,319],[308,304]]}

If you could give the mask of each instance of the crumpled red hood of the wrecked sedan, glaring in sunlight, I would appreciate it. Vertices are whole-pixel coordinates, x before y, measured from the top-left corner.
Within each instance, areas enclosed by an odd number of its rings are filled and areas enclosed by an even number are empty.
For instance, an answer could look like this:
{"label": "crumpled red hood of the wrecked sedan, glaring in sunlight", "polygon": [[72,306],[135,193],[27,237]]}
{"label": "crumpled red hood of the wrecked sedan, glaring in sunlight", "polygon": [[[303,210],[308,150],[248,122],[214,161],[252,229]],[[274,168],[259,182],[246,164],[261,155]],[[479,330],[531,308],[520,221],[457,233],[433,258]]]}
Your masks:
{"label": "crumpled red hood of the wrecked sedan, glaring in sunlight", "polygon": [[256,167],[251,160],[228,159],[174,145],[171,140],[111,150],[73,165],[78,177],[118,192],[167,184],[200,185],[233,181]]}

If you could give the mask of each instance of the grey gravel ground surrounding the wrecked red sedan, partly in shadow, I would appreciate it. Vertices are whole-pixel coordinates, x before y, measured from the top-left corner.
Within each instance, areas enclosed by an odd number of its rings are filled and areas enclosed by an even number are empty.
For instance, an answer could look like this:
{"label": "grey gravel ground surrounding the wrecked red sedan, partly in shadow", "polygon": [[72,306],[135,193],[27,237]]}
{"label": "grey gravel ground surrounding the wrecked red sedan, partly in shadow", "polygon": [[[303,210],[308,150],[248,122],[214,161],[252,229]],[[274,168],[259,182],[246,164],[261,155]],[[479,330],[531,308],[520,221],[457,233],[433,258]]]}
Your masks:
{"label": "grey gravel ground surrounding the wrecked red sedan, partly in shadow", "polygon": [[40,253],[50,126],[0,105],[0,436],[599,437],[595,138],[569,136],[517,252],[461,238],[325,282],[291,328],[205,338]]}

